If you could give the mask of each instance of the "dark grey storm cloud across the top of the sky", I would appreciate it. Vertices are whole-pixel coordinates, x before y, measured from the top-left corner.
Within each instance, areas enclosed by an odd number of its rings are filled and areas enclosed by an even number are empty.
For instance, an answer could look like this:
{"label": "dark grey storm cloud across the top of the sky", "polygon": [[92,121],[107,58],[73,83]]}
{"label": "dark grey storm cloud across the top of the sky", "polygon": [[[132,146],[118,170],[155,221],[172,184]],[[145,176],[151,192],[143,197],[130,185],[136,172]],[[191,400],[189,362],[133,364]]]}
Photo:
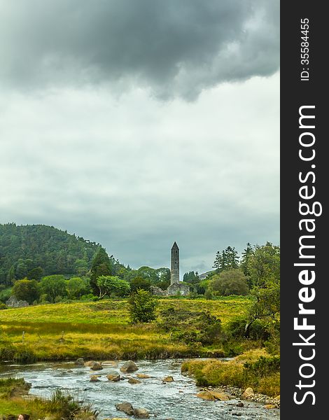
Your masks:
{"label": "dark grey storm cloud across the top of the sky", "polygon": [[193,99],[279,66],[276,0],[0,0],[0,83]]}

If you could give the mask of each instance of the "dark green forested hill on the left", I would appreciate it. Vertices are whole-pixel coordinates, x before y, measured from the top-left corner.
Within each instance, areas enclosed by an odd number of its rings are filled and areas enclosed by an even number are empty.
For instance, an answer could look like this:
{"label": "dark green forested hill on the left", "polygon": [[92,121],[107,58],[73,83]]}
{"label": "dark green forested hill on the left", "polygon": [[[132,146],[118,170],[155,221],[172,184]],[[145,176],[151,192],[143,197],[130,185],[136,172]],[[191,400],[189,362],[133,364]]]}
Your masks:
{"label": "dark green forested hill on the left", "polygon": [[0,225],[0,284],[35,278],[41,271],[42,275],[84,275],[99,247],[53,226]]}

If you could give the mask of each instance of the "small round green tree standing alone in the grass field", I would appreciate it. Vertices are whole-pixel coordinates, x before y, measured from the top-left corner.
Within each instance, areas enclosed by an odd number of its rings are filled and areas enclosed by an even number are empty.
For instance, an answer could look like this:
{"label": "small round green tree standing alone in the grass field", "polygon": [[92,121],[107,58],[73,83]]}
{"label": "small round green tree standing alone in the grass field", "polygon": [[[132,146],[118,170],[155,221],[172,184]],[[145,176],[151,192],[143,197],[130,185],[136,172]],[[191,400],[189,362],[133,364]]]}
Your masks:
{"label": "small round green tree standing alone in the grass field", "polygon": [[151,322],[155,320],[157,302],[147,290],[137,290],[128,300],[132,322]]}

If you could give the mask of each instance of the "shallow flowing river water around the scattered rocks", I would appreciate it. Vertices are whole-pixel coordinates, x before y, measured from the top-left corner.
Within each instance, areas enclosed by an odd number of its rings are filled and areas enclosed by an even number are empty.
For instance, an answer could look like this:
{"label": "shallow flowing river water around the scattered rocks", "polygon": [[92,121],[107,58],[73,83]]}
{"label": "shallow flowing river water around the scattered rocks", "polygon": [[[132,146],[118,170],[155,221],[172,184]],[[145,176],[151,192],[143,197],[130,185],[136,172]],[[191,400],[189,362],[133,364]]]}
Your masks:
{"label": "shallow flowing river water around the scattered rocks", "polygon": [[[110,371],[120,369],[105,365],[104,370],[92,372],[89,367],[77,367],[74,363],[36,363],[34,365],[1,365],[0,377],[24,377],[32,384],[30,394],[47,397],[56,389],[67,391],[78,400],[92,402],[99,420],[112,417],[131,418],[116,410],[118,402],[131,402],[134,407],[150,411],[151,419],[157,420],[226,420],[235,419],[279,419],[279,409],[265,409],[261,404],[244,401],[244,407],[237,407],[238,400],[205,401],[195,396],[200,388],[195,381],[181,374],[182,360],[139,360],[138,373],[151,376],[140,379],[141,384],[129,384],[127,380],[111,382],[106,379]],[[136,372],[135,372],[136,373]],[[92,374],[100,374],[99,382],[90,382]],[[162,384],[166,376],[174,381]],[[129,376],[128,374],[125,375]],[[131,374],[136,377],[135,374]]]}

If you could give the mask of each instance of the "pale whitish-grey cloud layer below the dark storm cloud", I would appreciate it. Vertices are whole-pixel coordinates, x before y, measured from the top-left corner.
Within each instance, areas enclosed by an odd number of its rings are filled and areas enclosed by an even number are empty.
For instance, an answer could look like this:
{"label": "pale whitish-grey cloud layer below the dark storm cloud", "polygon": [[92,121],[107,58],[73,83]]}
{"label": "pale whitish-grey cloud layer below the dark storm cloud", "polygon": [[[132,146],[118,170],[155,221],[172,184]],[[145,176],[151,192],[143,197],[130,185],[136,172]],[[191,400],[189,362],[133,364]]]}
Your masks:
{"label": "pale whitish-grey cloud layer below the dark storm cloud", "polygon": [[135,89],[0,97],[0,223],[45,223],[133,267],[210,269],[279,240],[279,76],[158,102]]}

